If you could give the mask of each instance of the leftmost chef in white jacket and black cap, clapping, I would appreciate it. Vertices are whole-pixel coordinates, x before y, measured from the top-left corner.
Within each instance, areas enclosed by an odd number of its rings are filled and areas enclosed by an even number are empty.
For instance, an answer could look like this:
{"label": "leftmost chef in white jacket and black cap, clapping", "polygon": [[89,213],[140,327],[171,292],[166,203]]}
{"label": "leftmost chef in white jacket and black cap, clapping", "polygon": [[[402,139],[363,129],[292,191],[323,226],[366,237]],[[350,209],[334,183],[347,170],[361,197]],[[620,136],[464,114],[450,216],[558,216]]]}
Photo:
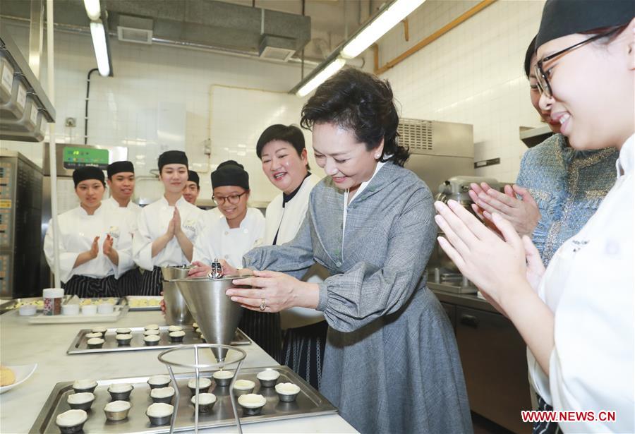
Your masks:
{"label": "leftmost chef in white jacket and black cap, clapping", "polygon": [[[80,206],[58,218],[60,280],[66,294],[80,297],[118,296],[117,282],[133,266],[131,230],[126,222],[114,226],[109,207],[102,204],[104,172],[97,167],[73,171]],[[53,223],[44,237],[44,255],[53,268]]]}

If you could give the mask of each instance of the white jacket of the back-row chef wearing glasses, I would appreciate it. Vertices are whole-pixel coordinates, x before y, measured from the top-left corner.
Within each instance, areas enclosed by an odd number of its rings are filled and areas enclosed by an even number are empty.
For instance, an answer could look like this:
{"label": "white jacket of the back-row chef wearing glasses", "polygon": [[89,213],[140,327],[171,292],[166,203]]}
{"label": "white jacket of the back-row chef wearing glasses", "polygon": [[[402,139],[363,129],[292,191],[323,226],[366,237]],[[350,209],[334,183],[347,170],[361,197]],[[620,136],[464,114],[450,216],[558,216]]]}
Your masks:
{"label": "white jacket of the back-row chef wearing glasses", "polygon": [[215,258],[242,267],[243,255],[260,246],[265,237],[265,217],[258,208],[247,208],[240,227],[230,229],[227,219],[214,208],[205,212],[203,228],[194,243],[193,260],[209,265]]}

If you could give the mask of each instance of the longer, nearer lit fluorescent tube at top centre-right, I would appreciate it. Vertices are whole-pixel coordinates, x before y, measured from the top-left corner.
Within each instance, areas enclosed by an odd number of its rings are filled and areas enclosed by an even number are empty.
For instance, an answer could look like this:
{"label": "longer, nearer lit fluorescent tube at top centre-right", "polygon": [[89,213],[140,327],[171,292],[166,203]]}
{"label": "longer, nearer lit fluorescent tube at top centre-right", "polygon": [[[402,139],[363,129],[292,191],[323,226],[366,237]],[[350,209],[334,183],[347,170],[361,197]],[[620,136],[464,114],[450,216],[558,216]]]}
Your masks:
{"label": "longer, nearer lit fluorescent tube at top centre-right", "polygon": [[395,25],[421,6],[425,0],[395,0],[382,13],[377,15],[358,35],[355,35],[341,49],[341,55],[353,59],[370,47],[376,40],[386,34]]}

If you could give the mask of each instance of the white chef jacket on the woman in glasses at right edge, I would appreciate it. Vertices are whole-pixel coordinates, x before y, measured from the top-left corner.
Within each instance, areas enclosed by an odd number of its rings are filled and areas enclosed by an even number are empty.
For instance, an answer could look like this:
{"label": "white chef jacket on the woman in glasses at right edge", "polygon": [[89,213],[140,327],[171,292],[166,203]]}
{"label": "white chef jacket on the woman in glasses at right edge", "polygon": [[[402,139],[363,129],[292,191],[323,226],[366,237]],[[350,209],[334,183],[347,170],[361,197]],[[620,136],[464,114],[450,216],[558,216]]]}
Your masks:
{"label": "white chef jacket on the woman in glasses at right edge", "polygon": [[528,351],[536,392],[563,411],[616,411],[615,422],[560,422],[564,432],[635,433],[634,166],[631,136],[595,215],[555,253],[538,295],[555,314],[550,377]]}

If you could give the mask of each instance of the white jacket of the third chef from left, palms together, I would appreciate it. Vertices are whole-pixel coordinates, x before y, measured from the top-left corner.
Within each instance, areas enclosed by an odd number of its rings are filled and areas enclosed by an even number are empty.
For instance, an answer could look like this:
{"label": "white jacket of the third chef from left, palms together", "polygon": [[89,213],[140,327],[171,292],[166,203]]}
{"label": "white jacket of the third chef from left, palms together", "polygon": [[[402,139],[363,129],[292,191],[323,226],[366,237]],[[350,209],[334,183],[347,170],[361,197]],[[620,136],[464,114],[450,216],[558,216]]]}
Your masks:
{"label": "white jacket of the third chef from left, palms together", "polygon": [[[176,201],[176,207],[179,208],[179,215],[181,215],[181,229],[194,243],[200,233],[200,217],[204,211],[188,203],[183,196]],[[144,270],[190,263],[183,254],[176,236],[152,258],[152,242],[166,233],[172,217],[174,217],[174,207],[168,205],[164,197],[141,209],[133,238],[133,259]]]}

